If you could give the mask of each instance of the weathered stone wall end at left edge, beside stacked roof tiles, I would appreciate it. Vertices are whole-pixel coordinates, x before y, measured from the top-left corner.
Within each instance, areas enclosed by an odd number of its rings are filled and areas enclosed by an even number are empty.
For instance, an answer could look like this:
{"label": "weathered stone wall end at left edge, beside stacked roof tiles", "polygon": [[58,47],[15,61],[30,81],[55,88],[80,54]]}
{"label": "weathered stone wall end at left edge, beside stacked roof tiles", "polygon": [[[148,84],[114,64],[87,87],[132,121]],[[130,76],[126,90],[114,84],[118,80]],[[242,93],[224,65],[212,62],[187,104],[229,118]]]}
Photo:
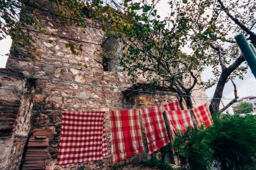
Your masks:
{"label": "weathered stone wall end at left edge, beside stacked roof tiles", "polygon": [[3,103],[0,106],[0,169],[18,169],[30,131],[30,110],[33,105],[32,96],[22,91],[32,91],[33,82],[2,74],[20,74],[0,70],[0,103]]}

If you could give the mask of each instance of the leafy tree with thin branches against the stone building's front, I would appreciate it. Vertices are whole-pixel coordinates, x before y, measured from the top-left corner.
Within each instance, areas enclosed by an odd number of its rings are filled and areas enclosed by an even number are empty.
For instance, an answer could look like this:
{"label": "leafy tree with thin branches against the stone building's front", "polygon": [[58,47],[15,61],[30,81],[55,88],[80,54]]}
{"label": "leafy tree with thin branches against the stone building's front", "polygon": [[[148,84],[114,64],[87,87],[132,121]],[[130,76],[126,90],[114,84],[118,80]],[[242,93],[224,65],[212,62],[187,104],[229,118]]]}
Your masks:
{"label": "leafy tree with thin branches against the stone building's front", "polygon": [[[184,96],[187,108],[192,108],[191,92],[198,83],[197,69],[203,54],[199,50],[192,55],[181,51],[189,41],[191,29],[191,21],[181,8],[183,4],[170,2],[172,12],[161,20],[155,9],[157,2],[125,1],[123,5],[111,2],[115,9],[107,7],[95,18],[100,20],[108,36],[123,42],[124,52],[119,59],[125,71],[134,79],[143,76],[150,82],[170,87]],[[103,10],[99,7],[98,11]]]}

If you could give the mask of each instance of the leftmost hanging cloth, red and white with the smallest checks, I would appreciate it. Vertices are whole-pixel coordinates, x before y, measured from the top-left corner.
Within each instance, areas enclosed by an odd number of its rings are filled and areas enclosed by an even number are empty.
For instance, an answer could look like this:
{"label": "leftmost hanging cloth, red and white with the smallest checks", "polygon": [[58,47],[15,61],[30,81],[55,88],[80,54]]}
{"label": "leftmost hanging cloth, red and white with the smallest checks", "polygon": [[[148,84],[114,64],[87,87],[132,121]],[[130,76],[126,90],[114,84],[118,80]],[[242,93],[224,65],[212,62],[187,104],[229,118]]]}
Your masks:
{"label": "leftmost hanging cloth, red and white with the smallest checks", "polygon": [[107,155],[105,112],[63,112],[57,164],[98,161]]}

